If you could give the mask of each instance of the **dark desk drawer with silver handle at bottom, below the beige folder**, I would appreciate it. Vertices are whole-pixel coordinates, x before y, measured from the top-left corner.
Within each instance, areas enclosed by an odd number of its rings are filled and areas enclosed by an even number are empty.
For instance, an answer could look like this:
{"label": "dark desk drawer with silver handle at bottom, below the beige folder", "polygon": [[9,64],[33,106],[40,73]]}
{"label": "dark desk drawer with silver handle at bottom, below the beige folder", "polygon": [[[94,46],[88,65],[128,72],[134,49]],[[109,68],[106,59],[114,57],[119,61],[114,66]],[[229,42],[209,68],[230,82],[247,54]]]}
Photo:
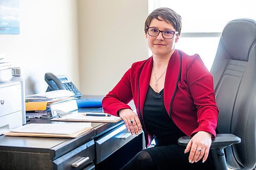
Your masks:
{"label": "dark desk drawer with silver handle at bottom, below the beige folder", "polygon": [[91,140],[75,150],[55,159],[54,169],[82,169],[94,160],[94,140]]}

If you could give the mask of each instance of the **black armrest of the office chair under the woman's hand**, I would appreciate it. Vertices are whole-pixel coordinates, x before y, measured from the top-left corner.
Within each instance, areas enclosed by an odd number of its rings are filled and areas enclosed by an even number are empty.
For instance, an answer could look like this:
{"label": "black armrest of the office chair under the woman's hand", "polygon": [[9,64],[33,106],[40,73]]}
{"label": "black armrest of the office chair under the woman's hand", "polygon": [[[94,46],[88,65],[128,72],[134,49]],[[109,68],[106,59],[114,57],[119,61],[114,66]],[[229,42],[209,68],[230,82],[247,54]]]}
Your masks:
{"label": "black armrest of the office chair under the woman's hand", "polygon": [[[191,139],[190,136],[183,136],[180,137],[178,140],[179,145],[186,146],[189,140]],[[240,143],[241,138],[233,135],[233,134],[217,134],[215,139],[211,141],[211,147],[213,148],[226,148],[232,144]]]}

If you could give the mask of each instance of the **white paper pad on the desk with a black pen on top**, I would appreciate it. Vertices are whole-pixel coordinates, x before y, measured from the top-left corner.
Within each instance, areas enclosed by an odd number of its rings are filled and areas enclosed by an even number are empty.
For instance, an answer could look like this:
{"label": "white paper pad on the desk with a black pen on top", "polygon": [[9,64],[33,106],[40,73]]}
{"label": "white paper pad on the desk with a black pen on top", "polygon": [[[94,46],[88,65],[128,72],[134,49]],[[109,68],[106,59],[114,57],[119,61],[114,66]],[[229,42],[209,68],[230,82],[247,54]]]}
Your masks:
{"label": "white paper pad on the desk with a black pen on top", "polygon": [[52,121],[71,121],[71,122],[105,122],[105,123],[113,123],[121,120],[121,117],[117,116],[86,116],[86,114],[105,114],[105,113],[92,113],[92,112],[71,112],[67,115],[60,115],[60,117],[56,117],[51,119]]}

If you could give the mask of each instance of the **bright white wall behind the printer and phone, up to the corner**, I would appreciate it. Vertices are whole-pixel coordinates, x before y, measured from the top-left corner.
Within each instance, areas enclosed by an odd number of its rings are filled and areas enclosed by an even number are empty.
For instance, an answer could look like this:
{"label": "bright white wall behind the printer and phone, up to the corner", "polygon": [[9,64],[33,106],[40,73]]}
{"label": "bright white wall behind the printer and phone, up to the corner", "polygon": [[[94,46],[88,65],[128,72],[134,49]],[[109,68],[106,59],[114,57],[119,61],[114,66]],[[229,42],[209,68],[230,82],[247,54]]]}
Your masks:
{"label": "bright white wall behind the printer and phone, up to the corner", "polygon": [[20,34],[0,34],[0,54],[22,67],[26,95],[46,90],[45,72],[79,88],[77,1],[20,0],[19,9]]}

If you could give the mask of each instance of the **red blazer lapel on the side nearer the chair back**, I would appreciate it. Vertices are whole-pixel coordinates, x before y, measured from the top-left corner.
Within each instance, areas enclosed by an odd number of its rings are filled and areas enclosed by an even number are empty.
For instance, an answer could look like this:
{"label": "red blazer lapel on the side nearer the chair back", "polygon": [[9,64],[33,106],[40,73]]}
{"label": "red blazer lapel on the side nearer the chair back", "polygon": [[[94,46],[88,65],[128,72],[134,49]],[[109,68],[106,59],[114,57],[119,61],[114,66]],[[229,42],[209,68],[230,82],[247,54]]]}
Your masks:
{"label": "red blazer lapel on the side nearer the chair back", "polygon": [[178,51],[175,50],[172,57],[170,57],[164,82],[164,106],[169,116],[171,114],[171,105],[178,86],[180,74],[181,57]]}

